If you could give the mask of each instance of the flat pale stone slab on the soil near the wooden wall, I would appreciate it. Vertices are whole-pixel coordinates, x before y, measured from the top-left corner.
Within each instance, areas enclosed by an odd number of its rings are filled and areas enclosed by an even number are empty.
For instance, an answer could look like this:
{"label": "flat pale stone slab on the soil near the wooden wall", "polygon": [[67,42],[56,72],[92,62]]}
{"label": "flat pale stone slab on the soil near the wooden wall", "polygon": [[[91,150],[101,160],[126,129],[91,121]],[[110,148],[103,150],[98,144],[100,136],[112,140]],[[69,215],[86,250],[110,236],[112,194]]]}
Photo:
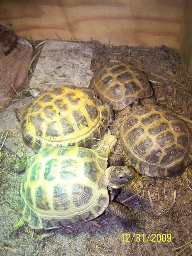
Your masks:
{"label": "flat pale stone slab on the soil near the wooden wall", "polygon": [[86,43],[46,41],[30,88],[44,92],[65,85],[88,87],[93,76],[90,70],[92,51]]}

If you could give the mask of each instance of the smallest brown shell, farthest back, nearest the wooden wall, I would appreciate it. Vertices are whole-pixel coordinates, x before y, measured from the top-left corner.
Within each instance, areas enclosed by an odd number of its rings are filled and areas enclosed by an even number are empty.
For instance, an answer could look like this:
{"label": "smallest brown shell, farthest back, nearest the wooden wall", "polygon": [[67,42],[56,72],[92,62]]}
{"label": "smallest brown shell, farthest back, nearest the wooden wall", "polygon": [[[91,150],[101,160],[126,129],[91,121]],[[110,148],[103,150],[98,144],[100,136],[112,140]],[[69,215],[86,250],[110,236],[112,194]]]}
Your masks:
{"label": "smallest brown shell, farthest back, nearest the wooden wall", "polygon": [[108,63],[90,81],[102,102],[110,102],[115,111],[122,110],[139,98],[153,95],[153,90],[138,68],[122,62]]}

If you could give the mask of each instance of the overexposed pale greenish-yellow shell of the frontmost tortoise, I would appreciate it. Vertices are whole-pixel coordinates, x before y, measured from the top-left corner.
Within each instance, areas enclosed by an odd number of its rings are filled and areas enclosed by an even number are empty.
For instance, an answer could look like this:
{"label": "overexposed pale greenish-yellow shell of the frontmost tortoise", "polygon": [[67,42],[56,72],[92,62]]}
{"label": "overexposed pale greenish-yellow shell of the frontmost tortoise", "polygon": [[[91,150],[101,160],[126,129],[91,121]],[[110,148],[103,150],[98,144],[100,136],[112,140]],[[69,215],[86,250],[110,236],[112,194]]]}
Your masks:
{"label": "overexposed pale greenish-yellow shell of the frontmost tortoise", "polygon": [[20,184],[20,212],[31,228],[87,222],[108,207],[108,154],[65,146],[41,148]]}

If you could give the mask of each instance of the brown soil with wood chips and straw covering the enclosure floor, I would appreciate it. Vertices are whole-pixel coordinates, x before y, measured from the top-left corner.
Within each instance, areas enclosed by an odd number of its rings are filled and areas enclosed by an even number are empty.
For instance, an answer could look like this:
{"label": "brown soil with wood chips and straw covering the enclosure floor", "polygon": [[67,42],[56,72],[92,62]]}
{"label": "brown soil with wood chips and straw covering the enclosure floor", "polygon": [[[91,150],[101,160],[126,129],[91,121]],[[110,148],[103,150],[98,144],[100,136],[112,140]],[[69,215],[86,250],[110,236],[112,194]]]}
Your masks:
{"label": "brown soil with wood chips and straw covering the enclosure floor", "polygon": [[[94,41],[87,44],[94,49],[91,64],[94,74],[108,60],[131,63],[147,75],[158,104],[192,119],[192,75],[186,71],[179,52],[166,46],[111,46]],[[4,111],[7,110],[1,110]],[[192,129],[190,123],[188,126]],[[4,137],[5,133],[1,140]],[[139,226],[129,227],[115,216],[104,213],[76,226],[33,230],[26,225],[14,230],[14,224],[21,219],[18,186],[22,175],[5,165],[12,154],[4,147],[0,154],[0,255],[192,255],[190,166],[175,178],[140,177],[122,188],[115,200],[130,208]]]}

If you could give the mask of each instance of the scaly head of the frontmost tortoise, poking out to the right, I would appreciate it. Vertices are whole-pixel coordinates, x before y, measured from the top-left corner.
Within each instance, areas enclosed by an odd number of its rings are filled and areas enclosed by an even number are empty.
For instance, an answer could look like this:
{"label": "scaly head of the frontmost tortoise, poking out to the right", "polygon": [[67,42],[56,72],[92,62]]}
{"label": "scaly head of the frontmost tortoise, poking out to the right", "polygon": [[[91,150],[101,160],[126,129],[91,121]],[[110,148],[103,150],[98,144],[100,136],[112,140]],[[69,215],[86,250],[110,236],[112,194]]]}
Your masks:
{"label": "scaly head of the frontmost tortoise, poking out to the right", "polygon": [[111,166],[106,169],[108,174],[108,189],[120,188],[130,183],[134,177],[134,169],[127,166]]}

